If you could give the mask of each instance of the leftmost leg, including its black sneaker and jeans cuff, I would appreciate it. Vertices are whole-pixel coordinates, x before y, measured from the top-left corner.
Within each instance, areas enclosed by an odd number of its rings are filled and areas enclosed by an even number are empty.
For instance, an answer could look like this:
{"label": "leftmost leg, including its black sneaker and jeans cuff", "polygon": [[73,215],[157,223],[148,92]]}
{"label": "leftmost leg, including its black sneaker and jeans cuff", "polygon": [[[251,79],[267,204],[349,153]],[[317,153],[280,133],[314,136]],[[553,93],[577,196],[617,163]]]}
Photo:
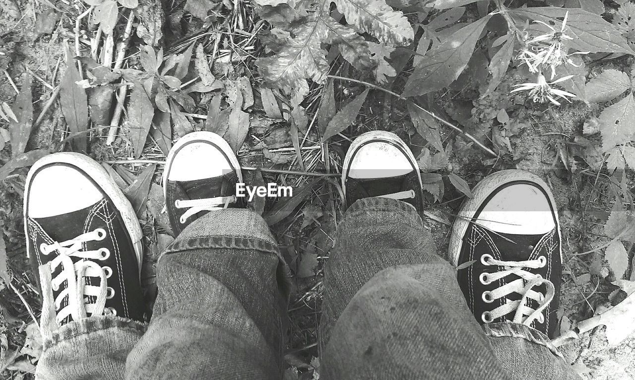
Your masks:
{"label": "leftmost leg, including its black sneaker and jeans cuff", "polygon": [[142,233],[130,203],[98,163],[55,153],[29,171],[24,226],[43,298],[36,377],[123,379],[145,330]]}

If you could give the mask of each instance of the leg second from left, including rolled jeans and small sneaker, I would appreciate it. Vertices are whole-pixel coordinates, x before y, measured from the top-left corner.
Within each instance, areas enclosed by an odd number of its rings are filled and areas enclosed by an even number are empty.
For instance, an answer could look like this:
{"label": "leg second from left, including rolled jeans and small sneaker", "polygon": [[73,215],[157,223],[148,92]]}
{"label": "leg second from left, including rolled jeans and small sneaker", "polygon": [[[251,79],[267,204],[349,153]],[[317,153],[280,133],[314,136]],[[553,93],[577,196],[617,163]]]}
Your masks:
{"label": "leg second from left, including rolled jeans and small sneaker", "polygon": [[166,205],[182,232],[159,258],[159,297],[126,379],[281,377],[285,266],[262,217],[236,208],[238,181],[213,133],[190,133],[168,155]]}

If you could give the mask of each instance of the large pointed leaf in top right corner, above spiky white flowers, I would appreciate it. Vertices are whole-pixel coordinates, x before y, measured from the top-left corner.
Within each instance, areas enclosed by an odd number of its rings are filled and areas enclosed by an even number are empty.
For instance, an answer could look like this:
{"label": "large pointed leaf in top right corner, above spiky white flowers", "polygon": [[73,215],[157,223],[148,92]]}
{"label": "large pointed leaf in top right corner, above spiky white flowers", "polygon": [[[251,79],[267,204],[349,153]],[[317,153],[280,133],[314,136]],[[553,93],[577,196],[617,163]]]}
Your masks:
{"label": "large pointed leaf in top right corner, above spiky white flowers", "polygon": [[[599,15],[578,8],[558,8],[554,6],[518,8],[508,11],[512,17],[520,18],[522,22],[525,22],[525,20],[530,20],[530,22],[539,20],[555,25],[562,25],[562,19],[567,12],[569,13],[566,22],[567,34],[573,37],[570,43],[575,50],[590,51],[591,53],[635,54],[626,39],[619,34],[615,27]],[[540,28],[540,30],[546,29],[547,27]]]}

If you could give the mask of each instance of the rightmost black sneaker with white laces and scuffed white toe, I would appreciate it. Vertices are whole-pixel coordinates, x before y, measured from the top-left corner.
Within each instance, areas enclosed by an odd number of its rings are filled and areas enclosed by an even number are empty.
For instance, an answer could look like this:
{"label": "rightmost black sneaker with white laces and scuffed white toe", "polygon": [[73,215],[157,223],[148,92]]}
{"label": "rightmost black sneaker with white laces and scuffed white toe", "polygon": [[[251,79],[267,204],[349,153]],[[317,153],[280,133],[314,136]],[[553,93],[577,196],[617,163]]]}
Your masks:
{"label": "rightmost black sneaker with white laces and scuffed white toe", "polygon": [[480,323],[523,323],[552,337],[562,257],[558,208],[547,184],[522,170],[488,175],[465,201],[450,236],[450,262]]}

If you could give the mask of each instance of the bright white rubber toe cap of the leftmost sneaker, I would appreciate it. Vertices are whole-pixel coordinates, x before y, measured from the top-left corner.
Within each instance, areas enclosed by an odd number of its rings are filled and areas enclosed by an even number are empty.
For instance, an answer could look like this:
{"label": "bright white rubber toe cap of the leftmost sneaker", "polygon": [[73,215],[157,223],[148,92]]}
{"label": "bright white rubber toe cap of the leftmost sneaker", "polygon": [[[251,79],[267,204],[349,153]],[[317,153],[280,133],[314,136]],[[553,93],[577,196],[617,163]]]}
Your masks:
{"label": "bright white rubber toe cap of the leftmost sneaker", "polygon": [[68,214],[104,198],[98,187],[76,168],[46,166],[34,175],[29,188],[29,217]]}

